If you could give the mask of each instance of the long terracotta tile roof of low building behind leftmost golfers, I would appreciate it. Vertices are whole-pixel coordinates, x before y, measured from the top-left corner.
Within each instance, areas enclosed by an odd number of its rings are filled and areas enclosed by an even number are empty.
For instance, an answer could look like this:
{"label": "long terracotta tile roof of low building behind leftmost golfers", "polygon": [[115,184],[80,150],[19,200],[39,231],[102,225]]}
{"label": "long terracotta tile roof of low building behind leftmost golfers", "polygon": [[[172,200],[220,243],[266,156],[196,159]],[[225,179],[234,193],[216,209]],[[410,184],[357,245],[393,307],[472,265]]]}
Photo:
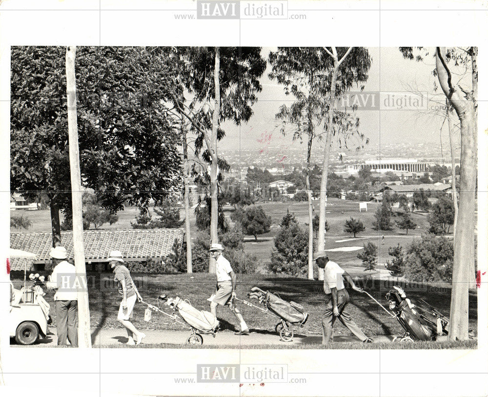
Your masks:
{"label": "long terracotta tile roof of low building behind leftmost golfers", "polygon": [[[175,239],[183,244],[183,229],[87,230],[83,232],[85,259],[103,260],[112,250],[127,259],[164,258],[169,255]],[[61,233],[61,245],[68,258],[73,258],[73,232]],[[10,233],[10,247],[37,255],[38,261],[49,261],[51,233]],[[28,261],[31,262],[31,261]],[[11,258],[12,270],[23,270],[24,260]]]}

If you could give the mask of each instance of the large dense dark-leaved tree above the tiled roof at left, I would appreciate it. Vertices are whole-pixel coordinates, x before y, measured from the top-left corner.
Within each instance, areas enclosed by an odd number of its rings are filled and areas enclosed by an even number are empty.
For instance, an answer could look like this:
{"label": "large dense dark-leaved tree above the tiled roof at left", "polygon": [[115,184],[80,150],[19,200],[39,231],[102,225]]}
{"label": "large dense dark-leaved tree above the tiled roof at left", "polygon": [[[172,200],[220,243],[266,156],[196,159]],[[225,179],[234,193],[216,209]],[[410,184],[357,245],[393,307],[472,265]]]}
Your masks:
{"label": "large dense dark-leaved tree above the tiled roof at left", "polygon": [[[64,47],[11,51],[11,188],[48,196],[53,246],[61,243],[59,210],[68,219],[71,212],[64,58]],[[178,132],[159,111],[164,82],[151,66],[148,48],[77,50],[81,179],[111,213],[179,185]]]}

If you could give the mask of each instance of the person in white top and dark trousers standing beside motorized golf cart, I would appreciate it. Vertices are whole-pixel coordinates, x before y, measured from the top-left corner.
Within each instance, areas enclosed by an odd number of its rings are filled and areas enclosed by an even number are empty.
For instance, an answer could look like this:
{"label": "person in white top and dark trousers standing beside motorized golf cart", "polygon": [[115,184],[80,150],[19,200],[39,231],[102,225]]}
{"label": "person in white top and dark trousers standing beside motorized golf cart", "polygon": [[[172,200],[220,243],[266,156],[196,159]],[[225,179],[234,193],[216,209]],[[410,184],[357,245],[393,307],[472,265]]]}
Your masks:
{"label": "person in white top and dark trousers standing beside motorized golf cart", "polygon": [[46,286],[57,289],[54,304],[58,345],[66,346],[67,339],[72,347],[78,347],[78,291],[75,286],[75,266],[66,261],[64,247],[51,248],[50,256],[54,269]]}

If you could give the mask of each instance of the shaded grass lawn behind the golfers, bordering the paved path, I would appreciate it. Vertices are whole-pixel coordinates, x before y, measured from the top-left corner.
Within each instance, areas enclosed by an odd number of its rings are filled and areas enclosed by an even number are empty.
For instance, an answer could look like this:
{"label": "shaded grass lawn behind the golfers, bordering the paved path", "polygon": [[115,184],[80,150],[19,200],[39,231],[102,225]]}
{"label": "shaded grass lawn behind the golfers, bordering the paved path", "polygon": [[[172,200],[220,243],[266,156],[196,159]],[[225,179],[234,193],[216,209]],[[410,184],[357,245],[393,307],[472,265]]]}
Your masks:
{"label": "shaded grass lawn behind the golfers, bordering the paved path", "polygon": [[[197,309],[208,310],[209,303],[206,299],[215,289],[215,276],[207,273],[176,274],[176,275],[147,275],[134,274],[134,280],[145,302],[156,304],[157,297],[161,294],[179,296],[188,299]],[[242,275],[239,277],[240,285],[237,287],[238,297],[247,299],[247,292],[253,286],[264,290],[271,290],[279,293],[286,301],[295,301],[304,305],[310,318],[303,328],[295,328],[296,334],[316,334],[322,332],[320,319],[324,310],[324,293],[322,282],[297,279],[293,277],[278,277],[276,275],[254,274]],[[20,281],[15,281],[20,286]],[[399,283],[400,284],[400,283]],[[92,327],[121,328],[117,321],[117,313],[121,298],[113,282],[112,273],[89,274],[89,304],[90,321]],[[364,284],[360,284],[364,285]],[[386,305],[385,294],[391,284],[381,280],[369,280],[366,290],[376,299]],[[436,307],[443,314],[449,315],[450,288],[440,286],[420,286],[409,284],[405,286],[407,297],[413,302],[418,299],[425,299],[432,306]],[[55,318],[53,291],[47,290],[45,296],[51,304],[51,315]],[[388,315],[369,297],[349,290],[351,303],[349,311],[363,329],[366,335],[394,335],[403,333],[403,328]],[[252,300],[251,302],[257,303]],[[174,324],[169,318],[153,314],[151,321],[144,321],[145,306],[136,303],[134,324],[140,329],[183,329],[179,324]],[[278,320],[272,316],[253,308],[243,305],[241,308],[244,319],[249,327],[262,332],[273,331]],[[237,325],[234,316],[224,307],[219,307],[218,317],[221,320],[222,329],[235,330]],[[469,299],[469,326],[477,331],[477,300],[476,291],[470,292]],[[335,335],[349,335],[349,330],[341,324],[337,324],[334,330]]]}

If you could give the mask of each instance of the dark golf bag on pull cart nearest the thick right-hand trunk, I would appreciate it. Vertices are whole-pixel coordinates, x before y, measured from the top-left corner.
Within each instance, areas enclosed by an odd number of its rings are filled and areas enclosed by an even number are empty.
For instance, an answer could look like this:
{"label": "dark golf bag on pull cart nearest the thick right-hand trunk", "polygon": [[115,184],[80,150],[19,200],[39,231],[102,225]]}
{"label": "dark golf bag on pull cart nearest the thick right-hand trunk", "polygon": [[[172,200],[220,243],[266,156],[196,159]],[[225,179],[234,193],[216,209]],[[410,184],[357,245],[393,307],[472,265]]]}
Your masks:
{"label": "dark golf bag on pull cart nearest the thick right-hand trunk", "polygon": [[396,319],[405,329],[405,335],[400,338],[434,340],[438,335],[436,323],[429,321],[424,310],[410,302],[402,288],[397,286],[393,288],[386,294],[386,299],[389,302],[390,310],[393,311]]}

